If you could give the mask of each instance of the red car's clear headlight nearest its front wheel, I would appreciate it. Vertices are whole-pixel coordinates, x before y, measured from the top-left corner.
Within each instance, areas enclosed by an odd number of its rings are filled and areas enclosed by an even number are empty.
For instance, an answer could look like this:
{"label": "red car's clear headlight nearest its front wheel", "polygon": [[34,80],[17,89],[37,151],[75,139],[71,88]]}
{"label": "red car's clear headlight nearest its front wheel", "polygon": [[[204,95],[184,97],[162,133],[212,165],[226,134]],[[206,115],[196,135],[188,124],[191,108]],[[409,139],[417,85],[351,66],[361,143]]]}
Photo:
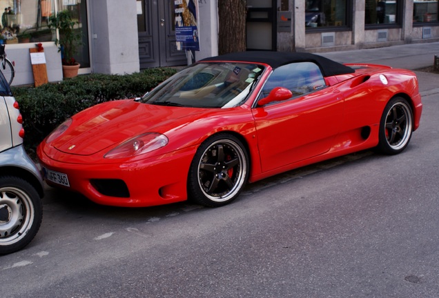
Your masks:
{"label": "red car's clear headlight nearest its front wheel", "polygon": [[146,132],[143,135],[129,139],[116,148],[108,151],[104,158],[123,158],[142,155],[166,146],[168,138],[157,132]]}

